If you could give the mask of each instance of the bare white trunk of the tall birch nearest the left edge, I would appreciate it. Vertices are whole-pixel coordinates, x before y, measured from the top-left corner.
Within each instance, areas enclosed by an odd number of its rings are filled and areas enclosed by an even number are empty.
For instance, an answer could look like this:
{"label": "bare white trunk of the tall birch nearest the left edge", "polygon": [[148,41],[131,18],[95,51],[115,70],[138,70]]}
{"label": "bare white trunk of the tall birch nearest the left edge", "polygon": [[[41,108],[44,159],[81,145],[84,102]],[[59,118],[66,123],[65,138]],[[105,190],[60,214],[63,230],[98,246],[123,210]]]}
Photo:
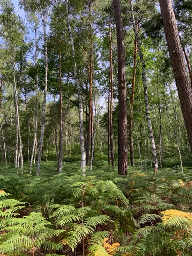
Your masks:
{"label": "bare white trunk of the tall birch nearest the left edge", "polygon": [[[15,119],[16,119],[16,136],[15,136],[15,168],[19,166],[20,158],[20,168],[23,169],[23,154],[22,154],[22,136],[20,133],[20,121],[19,121],[19,110],[18,110],[18,93],[16,88],[15,79],[15,63],[14,57],[12,56],[12,75],[13,75],[13,92],[14,92],[14,102],[15,102]],[[19,154],[18,154],[18,139],[19,139]]]}

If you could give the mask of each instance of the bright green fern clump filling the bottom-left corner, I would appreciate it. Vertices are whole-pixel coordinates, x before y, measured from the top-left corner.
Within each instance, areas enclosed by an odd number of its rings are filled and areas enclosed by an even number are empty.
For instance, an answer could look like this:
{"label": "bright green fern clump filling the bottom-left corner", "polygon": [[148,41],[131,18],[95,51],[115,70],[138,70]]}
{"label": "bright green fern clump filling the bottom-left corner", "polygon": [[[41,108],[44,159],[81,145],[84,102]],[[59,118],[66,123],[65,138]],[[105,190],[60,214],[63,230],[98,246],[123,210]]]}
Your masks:
{"label": "bright green fern clump filling the bottom-left corner", "polygon": [[1,234],[0,252],[29,252],[33,248],[40,248],[47,239],[62,233],[62,230],[48,228],[50,224],[41,214],[35,212],[17,218],[14,225],[6,226],[6,233]]}

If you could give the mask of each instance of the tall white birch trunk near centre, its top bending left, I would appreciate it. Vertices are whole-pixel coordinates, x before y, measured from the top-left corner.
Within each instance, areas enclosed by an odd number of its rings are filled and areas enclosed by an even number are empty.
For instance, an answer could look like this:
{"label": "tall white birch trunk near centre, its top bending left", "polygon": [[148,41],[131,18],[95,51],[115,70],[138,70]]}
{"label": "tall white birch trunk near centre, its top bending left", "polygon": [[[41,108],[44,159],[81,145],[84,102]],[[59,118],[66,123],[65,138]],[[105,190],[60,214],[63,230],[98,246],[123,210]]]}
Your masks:
{"label": "tall white birch trunk near centre, its top bending left", "polygon": [[86,171],[86,151],[84,148],[84,135],[83,135],[83,98],[82,98],[82,92],[81,92],[79,79],[77,76],[77,64],[75,61],[75,48],[74,48],[73,35],[71,32],[70,17],[69,17],[69,11],[68,11],[68,0],[66,0],[66,15],[67,15],[67,26],[68,26],[68,31],[69,31],[69,37],[70,37],[70,42],[71,42],[71,51],[72,51],[72,56],[73,56],[73,60],[74,60],[75,84],[77,87],[78,99],[79,99],[79,126],[80,126],[79,140],[80,140],[80,148],[81,148],[81,170],[82,170],[82,173],[84,176],[85,171]]}

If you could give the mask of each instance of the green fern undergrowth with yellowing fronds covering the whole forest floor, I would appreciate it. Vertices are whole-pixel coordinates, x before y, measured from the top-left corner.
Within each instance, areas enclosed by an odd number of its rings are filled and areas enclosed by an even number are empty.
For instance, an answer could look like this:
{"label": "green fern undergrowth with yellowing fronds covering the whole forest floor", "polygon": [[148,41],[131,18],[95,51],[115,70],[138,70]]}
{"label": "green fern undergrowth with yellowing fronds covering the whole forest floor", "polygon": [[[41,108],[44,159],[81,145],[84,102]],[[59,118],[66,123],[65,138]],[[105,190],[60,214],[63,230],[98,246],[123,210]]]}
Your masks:
{"label": "green fern undergrowth with yellowing fronds covering the whole forest floor", "polygon": [[96,163],[86,177],[79,162],[39,176],[0,165],[0,255],[192,255],[190,168],[121,177]]}

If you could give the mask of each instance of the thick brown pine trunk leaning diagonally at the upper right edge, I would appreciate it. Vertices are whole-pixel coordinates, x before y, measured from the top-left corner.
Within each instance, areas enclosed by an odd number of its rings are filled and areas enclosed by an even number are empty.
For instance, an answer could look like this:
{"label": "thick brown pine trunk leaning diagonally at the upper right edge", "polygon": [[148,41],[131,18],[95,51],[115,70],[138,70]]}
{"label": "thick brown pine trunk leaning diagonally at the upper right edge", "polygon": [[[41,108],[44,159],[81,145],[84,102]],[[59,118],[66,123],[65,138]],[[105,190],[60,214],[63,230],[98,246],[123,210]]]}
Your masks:
{"label": "thick brown pine trunk leaning diagonally at the upper right edge", "polygon": [[189,143],[192,147],[192,87],[187,74],[171,0],[159,0],[170,59]]}

